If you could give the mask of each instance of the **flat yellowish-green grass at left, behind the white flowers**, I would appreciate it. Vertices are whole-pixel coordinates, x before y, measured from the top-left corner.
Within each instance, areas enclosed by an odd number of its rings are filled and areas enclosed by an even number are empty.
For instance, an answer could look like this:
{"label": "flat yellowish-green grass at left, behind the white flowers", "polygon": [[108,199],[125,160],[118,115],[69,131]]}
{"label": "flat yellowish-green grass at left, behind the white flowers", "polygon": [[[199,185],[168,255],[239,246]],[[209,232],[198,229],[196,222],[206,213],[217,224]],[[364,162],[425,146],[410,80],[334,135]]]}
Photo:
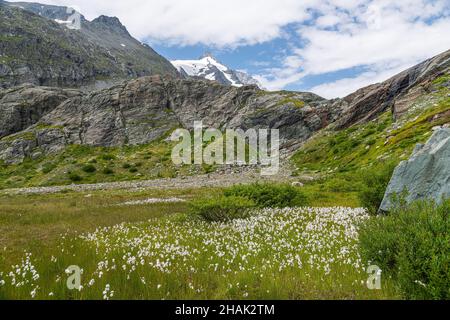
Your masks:
{"label": "flat yellowish-green grass at left, behind the white flowers", "polygon": [[[17,256],[23,250],[51,246],[60,234],[75,234],[121,222],[145,221],[152,217],[184,212],[186,204],[114,206],[130,200],[186,197],[206,190],[62,192],[50,195],[0,195],[0,248]],[[210,193],[211,190],[208,190]],[[212,191],[214,192],[214,191]]]}

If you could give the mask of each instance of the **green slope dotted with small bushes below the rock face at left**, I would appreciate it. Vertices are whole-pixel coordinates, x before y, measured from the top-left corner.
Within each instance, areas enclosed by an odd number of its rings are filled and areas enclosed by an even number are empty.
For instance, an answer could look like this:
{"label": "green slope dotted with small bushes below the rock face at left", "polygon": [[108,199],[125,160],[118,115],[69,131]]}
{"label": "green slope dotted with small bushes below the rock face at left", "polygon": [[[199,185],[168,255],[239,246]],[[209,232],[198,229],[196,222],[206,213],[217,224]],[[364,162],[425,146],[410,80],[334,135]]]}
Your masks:
{"label": "green slope dotted with small bushes below the rock face at left", "polygon": [[[61,153],[26,158],[21,164],[0,162],[0,189],[189,175],[188,166],[173,165],[171,151],[172,145],[164,141],[123,148],[71,145]],[[206,169],[199,167],[198,171],[203,173]]]}

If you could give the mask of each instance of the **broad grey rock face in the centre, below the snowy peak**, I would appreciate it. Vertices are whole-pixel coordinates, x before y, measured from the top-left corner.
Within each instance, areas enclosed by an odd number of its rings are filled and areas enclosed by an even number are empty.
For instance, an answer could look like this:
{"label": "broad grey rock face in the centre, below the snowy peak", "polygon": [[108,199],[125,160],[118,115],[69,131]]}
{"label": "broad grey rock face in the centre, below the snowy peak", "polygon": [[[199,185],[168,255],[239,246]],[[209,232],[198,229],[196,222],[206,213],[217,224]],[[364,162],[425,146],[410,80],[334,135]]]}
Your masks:
{"label": "broad grey rock face in the centre, below the snowy peak", "polygon": [[[35,90],[40,90],[35,88]],[[0,140],[0,159],[20,162],[69,144],[137,145],[163,138],[194,121],[219,129],[279,129],[282,148],[303,142],[340,113],[310,93],[266,93],[256,86],[230,87],[207,80],[143,77],[68,98],[40,120]],[[304,102],[295,106],[291,100]]]}

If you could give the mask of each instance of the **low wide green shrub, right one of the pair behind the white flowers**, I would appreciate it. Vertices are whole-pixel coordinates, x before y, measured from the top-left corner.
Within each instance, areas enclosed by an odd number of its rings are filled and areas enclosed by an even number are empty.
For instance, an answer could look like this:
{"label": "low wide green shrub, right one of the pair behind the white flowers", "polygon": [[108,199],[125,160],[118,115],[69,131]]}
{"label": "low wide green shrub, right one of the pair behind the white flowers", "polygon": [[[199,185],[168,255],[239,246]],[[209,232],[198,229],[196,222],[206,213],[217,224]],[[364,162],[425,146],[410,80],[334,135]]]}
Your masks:
{"label": "low wide green shrub, right one of the pair behind the white flowers", "polygon": [[254,183],[225,190],[226,197],[243,197],[252,200],[260,208],[299,207],[307,204],[305,194],[287,184]]}

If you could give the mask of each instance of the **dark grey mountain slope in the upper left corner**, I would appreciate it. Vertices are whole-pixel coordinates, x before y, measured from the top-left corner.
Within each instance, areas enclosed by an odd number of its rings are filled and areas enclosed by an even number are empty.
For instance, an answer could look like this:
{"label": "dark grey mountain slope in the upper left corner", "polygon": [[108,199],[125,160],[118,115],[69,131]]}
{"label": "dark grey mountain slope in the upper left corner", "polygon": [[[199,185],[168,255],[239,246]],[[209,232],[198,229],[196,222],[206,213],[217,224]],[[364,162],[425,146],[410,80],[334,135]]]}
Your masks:
{"label": "dark grey mountain slope in the upper left corner", "polygon": [[73,30],[64,23],[72,14],[65,7],[0,2],[0,87],[101,87],[140,76],[178,76],[117,18],[87,21],[81,15],[81,29]]}

